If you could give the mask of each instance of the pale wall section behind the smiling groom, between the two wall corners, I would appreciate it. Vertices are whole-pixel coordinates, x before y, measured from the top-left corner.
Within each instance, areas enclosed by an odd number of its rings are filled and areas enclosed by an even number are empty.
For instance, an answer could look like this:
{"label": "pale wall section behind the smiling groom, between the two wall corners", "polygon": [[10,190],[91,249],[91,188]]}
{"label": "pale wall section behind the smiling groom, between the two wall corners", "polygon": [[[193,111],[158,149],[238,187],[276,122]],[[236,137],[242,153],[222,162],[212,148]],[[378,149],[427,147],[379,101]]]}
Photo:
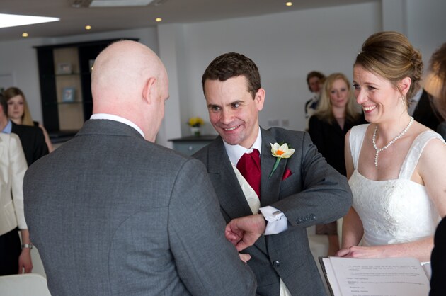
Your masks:
{"label": "pale wall section behind the smiling groom, between the two wall corners", "polygon": [[351,79],[362,42],[381,29],[380,11],[380,4],[370,3],[185,25],[188,89],[182,95],[189,114],[207,118],[202,73],[217,55],[236,51],[253,59],[261,73],[261,125],[287,119],[290,129],[303,129],[304,103],[311,96],[307,73],[343,72]]}

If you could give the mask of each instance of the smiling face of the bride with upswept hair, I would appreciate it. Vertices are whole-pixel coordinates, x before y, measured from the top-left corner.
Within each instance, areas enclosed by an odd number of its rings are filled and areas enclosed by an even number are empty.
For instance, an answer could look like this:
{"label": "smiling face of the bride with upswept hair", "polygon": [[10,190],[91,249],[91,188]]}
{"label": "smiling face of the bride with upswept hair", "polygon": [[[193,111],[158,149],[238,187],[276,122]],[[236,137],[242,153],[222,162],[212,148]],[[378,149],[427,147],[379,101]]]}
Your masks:
{"label": "smiling face of the bride with upswept hair", "polygon": [[366,71],[360,65],[353,68],[353,88],[356,101],[369,123],[380,123],[401,113],[401,93],[390,81]]}

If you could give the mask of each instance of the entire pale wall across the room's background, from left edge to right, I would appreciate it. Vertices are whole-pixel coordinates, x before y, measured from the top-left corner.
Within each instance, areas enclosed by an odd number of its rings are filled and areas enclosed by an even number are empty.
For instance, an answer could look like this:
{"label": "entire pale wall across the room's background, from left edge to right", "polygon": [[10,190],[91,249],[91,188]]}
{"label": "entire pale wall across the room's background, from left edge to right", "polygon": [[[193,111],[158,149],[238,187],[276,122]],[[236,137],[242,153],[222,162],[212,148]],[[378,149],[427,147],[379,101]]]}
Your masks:
{"label": "entire pale wall across the room's background, from left edge to right", "polygon": [[[444,11],[444,0],[382,0],[225,21],[166,24],[159,25],[158,29],[0,42],[0,76],[13,74],[14,84],[28,98],[33,117],[41,121],[33,46],[140,38],[159,53],[172,78],[166,120],[157,139],[170,147],[168,139],[190,135],[185,125],[189,117],[201,116],[207,120],[201,86],[207,64],[217,55],[236,51],[251,57],[260,69],[267,94],[261,125],[268,127],[271,119],[288,119],[289,128],[301,130],[304,101],[310,96],[305,81],[309,71],[343,72],[351,79],[353,60],[362,42],[383,29],[406,33],[428,62],[432,52],[446,41]],[[205,132],[214,132],[209,123],[205,125]]]}

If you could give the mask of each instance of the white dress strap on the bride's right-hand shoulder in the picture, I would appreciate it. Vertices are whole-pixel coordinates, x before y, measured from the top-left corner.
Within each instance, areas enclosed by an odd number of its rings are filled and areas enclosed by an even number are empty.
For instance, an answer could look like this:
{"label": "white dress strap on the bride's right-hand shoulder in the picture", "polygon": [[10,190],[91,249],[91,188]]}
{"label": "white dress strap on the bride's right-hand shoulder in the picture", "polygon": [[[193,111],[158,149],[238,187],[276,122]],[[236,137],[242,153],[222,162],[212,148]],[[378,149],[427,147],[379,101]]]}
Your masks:
{"label": "white dress strap on the bride's right-hand shoulder in the picture", "polygon": [[411,148],[407,152],[406,159],[404,159],[403,165],[401,166],[401,171],[399,172],[400,179],[411,179],[413,171],[415,171],[418,160],[420,159],[421,153],[423,153],[424,147],[432,139],[439,139],[443,143],[445,142],[445,140],[443,140],[438,133],[432,130],[422,132],[415,138],[415,140],[413,140]]}

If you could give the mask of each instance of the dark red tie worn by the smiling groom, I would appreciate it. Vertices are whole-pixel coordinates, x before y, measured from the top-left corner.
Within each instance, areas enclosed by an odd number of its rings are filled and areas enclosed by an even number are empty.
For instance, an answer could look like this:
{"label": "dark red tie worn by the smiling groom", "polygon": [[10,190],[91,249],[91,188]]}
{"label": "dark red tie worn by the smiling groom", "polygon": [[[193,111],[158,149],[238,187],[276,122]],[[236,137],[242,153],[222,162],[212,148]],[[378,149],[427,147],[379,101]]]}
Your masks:
{"label": "dark red tie worn by the smiling groom", "polygon": [[237,169],[249,185],[256,191],[258,198],[260,198],[260,181],[261,181],[261,169],[260,169],[260,156],[257,149],[253,149],[252,153],[245,153],[237,162]]}

